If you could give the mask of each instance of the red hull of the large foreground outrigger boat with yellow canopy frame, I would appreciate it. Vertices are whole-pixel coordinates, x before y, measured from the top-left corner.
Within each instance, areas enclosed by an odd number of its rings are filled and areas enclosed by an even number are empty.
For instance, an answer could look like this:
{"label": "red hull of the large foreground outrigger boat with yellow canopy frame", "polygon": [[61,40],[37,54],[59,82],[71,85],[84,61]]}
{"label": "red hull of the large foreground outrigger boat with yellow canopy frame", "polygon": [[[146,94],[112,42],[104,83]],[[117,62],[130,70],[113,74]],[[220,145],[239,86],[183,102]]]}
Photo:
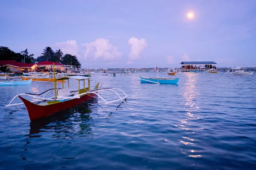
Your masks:
{"label": "red hull of the large foreground outrigger boat with yellow canopy frame", "polygon": [[31,121],[35,121],[37,119],[45,118],[59,111],[63,111],[67,108],[71,108],[80,103],[86,102],[87,100],[92,99],[95,96],[96,94],[84,95],[81,96],[79,99],[70,99],[64,102],[58,102],[49,105],[37,105],[32,102],[29,102],[27,99],[24,99],[21,96],[19,96],[19,98],[26,106],[26,109],[29,113],[29,119]]}

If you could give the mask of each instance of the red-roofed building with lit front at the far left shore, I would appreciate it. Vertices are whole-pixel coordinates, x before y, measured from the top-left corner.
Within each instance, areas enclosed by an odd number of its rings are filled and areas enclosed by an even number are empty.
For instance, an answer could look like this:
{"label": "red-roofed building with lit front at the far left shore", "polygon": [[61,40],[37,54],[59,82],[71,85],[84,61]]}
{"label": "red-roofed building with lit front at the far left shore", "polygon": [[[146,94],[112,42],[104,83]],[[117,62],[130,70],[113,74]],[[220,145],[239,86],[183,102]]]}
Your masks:
{"label": "red-roofed building with lit front at the far left shore", "polygon": [[23,62],[15,62],[15,60],[0,60],[0,66],[7,66],[12,72],[30,72],[37,71],[39,66],[37,64],[28,64]]}

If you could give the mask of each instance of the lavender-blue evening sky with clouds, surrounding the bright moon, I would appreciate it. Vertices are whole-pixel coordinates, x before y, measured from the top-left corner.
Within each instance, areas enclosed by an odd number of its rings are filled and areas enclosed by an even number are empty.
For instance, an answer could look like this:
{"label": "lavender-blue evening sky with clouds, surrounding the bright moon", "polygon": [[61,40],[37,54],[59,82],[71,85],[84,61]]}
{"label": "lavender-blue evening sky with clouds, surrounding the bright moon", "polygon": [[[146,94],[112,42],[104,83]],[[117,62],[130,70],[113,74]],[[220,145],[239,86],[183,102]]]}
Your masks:
{"label": "lavender-blue evening sky with clouds, surrounding the bright moon", "polygon": [[1,0],[0,23],[0,46],[82,68],[256,67],[256,0]]}

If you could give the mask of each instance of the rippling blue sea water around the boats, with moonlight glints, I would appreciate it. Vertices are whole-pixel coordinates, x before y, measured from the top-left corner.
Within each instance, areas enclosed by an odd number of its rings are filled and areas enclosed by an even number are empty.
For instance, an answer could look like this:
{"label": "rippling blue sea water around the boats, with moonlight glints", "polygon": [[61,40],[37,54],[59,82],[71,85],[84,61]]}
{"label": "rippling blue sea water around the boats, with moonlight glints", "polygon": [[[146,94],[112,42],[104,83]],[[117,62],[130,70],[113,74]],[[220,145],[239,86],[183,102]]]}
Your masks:
{"label": "rippling blue sea water around the boats, with moonlight glints", "polygon": [[4,105],[52,82],[0,87],[0,169],[256,167],[256,74],[182,73],[177,85],[140,83],[139,75],[156,73],[95,73],[91,86],[99,81],[102,88],[121,88],[128,99],[111,105],[91,100],[37,122],[24,106]]}

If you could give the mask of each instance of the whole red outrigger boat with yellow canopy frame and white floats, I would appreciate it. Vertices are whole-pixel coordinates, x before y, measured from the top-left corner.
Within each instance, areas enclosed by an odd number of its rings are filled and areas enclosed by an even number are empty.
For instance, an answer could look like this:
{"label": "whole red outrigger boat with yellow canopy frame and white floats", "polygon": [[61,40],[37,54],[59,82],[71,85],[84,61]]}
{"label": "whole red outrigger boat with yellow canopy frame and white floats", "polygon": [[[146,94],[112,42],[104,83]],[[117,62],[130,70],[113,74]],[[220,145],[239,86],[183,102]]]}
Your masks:
{"label": "whole red outrigger boat with yellow canopy frame and white floats", "polygon": [[[54,63],[53,63],[53,73],[55,73],[54,70]],[[12,101],[6,105],[6,107],[11,107],[11,106],[17,106],[17,105],[25,105],[26,109],[29,113],[29,119],[31,121],[41,119],[47,116],[50,116],[58,111],[65,110],[67,108],[76,106],[80,103],[86,102],[89,99],[99,97],[102,99],[106,105],[113,103],[113,102],[119,102],[123,99],[126,99],[128,96],[125,94],[124,91],[122,91],[119,88],[102,88],[99,89],[99,82],[96,85],[96,87],[91,90],[90,89],[90,77],[82,77],[82,76],[72,76],[72,77],[61,77],[58,79],[55,79],[55,74],[53,74],[54,77],[54,88],[49,89],[47,91],[42,92],[41,94],[31,94],[31,93],[25,93],[25,94],[18,94],[16,95]],[[69,79],[76,79],[79,82],[79,87],[78,90],[71,90],[69,87]],[[85,79],[88,80],[88,87],[85,88]],[[64,80],[68,81],[68,88],[64,88]],[[58,88],[58,83],[57,81],[62,81],[62,88]],[[80,82],[83,82],[84,87],[80,89]],[[124,96],[121,97],[116,91],[121,91]],[[54,91],[55,96],[52,97],[46,97],[46,95],[50,92]],[[105,100],[101,95],[99,95],[99,92],[103,91],[113,91],[119,99],[113,99],[111,101]],[[43,95],[43,97],[40,97]],[[22,96],[30,96],[33,97],[34,99],[38,99],[36,101],[29,101]],[[22,103],[15,103],[12,104],[14,99],[16,97],[19,97],[22,100]]]}

